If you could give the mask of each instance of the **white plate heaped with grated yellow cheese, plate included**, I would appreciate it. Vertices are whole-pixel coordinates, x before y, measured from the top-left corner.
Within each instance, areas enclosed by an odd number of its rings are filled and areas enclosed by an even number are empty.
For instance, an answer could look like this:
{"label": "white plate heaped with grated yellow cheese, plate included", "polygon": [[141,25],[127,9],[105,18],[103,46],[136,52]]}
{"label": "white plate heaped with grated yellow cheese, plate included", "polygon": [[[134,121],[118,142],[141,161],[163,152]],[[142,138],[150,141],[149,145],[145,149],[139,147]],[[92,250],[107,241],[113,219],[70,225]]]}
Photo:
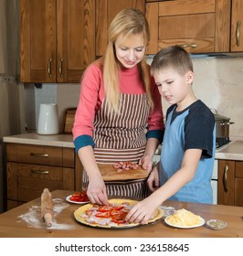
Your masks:
{"label": "white plate heaped with grated yellow cheese, plate included", "polygon": [[205,219],[185,208],[176,210],[174,214],[167,216],[164,221],[167,225],[180,229],[192,229],[205,224]]}

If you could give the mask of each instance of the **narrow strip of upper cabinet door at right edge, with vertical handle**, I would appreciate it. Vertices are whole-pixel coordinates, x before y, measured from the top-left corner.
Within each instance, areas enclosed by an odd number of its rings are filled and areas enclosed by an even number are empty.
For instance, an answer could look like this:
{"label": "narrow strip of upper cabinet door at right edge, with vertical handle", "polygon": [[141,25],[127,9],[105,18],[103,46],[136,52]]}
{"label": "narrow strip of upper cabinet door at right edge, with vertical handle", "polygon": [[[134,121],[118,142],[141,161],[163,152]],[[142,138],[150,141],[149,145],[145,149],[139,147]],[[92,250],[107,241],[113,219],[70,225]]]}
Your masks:
{"label": "narrow strip of upper cabinet door at right edge, with vertical handle", "polygon": [[231,51],[243,51],[243,1],[232,0]]}

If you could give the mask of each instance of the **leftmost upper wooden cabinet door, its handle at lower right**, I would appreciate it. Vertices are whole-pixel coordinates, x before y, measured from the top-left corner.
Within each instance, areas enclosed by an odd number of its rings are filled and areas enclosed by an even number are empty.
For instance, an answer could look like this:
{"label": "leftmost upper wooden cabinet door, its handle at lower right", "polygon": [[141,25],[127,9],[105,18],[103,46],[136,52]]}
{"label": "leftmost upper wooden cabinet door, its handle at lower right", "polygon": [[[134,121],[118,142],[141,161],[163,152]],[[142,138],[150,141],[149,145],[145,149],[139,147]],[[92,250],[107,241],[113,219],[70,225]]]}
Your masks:
{"label": "leftmost upper wooden cabinet door, its handle at lower right", "polygon": [[21,0],[20,80],[56,80],[56,0]]}

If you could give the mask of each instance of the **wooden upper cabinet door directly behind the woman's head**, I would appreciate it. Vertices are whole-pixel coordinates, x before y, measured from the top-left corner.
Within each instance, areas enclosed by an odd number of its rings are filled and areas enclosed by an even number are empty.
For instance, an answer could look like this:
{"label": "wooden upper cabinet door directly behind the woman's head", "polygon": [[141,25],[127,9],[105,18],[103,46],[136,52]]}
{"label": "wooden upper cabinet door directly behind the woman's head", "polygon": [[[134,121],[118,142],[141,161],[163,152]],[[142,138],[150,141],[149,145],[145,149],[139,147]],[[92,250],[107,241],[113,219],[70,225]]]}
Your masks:
{"label": "wooden upper cabinet door directly behind the woman's head", "polygon": [[124,8],[136,8],[144,12],[145,0],[96,0],[96,56],[105,53],[108,27],[113,17]]}

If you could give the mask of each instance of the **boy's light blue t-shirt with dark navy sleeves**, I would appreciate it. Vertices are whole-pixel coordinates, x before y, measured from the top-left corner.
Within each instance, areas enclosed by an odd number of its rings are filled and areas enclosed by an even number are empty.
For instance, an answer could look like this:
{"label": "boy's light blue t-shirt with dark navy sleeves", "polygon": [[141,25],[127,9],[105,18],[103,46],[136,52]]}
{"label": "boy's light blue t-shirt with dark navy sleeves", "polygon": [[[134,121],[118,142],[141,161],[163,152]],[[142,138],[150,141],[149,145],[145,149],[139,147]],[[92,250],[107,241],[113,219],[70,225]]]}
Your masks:
{"label": "boy's light blue t-shirt with dark navy sleeves", "polygon": [[215,116],[198,100],[183,112],[176,104],[166,113],[164,141],[159,168],[160,186],[180,169],[185,150],[202,149],[194,178],[169,200],[212,204],[211,176],[216,152]]}

